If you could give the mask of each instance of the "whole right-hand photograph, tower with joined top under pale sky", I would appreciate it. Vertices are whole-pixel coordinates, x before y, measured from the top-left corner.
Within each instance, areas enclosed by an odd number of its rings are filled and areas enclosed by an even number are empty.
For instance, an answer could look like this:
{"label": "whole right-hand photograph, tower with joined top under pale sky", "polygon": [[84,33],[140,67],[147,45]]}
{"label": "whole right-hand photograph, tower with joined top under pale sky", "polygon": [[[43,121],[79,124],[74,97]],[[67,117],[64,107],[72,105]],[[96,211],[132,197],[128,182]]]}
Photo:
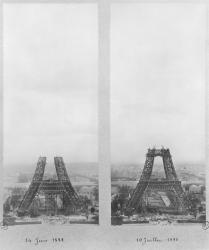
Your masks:
{"label": "whole right-hand photograph, tower with joined top under pale sky", "polygon": [[112,225],[205,221],[206,10],[111,6]]}

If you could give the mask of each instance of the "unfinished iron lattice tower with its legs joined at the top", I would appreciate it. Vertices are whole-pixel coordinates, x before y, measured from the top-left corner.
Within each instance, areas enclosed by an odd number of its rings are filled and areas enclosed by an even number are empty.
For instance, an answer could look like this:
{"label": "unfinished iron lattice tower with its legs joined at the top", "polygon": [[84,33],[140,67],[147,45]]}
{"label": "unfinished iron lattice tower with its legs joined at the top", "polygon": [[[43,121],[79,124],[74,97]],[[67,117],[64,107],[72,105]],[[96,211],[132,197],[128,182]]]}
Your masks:
{"label": "unfinished iron lattice tower with its legs joined at the top", "polygon": [[[160,156],[163,159],[163,166],[166,178],[164,180],[152,180],[151,174],[154,165],[154,158]],[[178,180],[169,149],[148,149],[146,161],[140,180],[131,195],[127,209],[138,210],[143,203],[143,194],[147,190],[169,191],[174,193],[174,208],[177,211],[185,211],[181,182]]]}

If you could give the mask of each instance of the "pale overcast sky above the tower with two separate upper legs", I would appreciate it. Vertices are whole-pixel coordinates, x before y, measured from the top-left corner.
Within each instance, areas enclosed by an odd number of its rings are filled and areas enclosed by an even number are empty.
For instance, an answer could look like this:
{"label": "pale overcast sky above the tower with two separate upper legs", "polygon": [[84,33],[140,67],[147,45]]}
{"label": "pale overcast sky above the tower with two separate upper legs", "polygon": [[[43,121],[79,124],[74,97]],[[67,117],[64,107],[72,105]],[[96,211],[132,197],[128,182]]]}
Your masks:
{"label": "pale overcast sky above the tower with two separate upper legs", "polygon": [[4,5],[4,163],[97,161],[93,4]]}

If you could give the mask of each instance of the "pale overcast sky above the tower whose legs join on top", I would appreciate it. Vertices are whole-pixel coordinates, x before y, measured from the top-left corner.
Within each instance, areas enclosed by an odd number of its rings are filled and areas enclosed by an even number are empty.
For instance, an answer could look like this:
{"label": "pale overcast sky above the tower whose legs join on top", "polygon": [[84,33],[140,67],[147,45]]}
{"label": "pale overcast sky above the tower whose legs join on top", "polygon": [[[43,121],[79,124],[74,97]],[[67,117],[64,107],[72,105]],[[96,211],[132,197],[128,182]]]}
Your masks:
{"label": "pale overcast sky above the tower whose legs join on top", "polygon": [[196,4],[114,4],[111,16],[113,162],[144,162],[169,147],[204,161],[205,18]]}

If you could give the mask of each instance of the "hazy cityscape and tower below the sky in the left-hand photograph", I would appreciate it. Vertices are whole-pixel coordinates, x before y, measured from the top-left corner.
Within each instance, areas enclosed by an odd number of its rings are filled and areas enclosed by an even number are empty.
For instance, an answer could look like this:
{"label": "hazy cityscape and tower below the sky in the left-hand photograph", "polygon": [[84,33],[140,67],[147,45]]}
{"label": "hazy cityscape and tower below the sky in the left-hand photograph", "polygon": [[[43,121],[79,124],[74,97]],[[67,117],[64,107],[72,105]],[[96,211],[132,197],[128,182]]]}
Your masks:
{"label": "hazy cityscape and tower below the sky in the left-hand photograph", "polygon": [[53,163],[44,171],[45,160],[40,157],[37,168],[5,170],[4,224],[98,224],[97,164],[64,164],[61,158],[66,171]]}

